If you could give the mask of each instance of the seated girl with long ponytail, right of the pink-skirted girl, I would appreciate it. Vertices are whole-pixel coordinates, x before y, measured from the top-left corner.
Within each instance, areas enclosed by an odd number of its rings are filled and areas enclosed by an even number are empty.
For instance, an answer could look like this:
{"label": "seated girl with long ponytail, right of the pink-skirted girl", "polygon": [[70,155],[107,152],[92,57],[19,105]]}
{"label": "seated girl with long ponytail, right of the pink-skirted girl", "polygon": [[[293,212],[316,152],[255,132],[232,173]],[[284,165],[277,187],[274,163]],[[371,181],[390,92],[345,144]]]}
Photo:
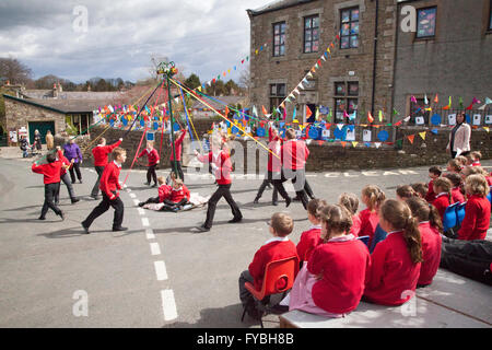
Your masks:
{"label": "seated girl with long ponytail, right of the pink-skirted girl", "polygon": [[406,202],[388,199],[379,210],[379,224],[388,235],[371,256],[364,296],[382,305],[401,305],[415,292],[422,262],[419,223]]}

